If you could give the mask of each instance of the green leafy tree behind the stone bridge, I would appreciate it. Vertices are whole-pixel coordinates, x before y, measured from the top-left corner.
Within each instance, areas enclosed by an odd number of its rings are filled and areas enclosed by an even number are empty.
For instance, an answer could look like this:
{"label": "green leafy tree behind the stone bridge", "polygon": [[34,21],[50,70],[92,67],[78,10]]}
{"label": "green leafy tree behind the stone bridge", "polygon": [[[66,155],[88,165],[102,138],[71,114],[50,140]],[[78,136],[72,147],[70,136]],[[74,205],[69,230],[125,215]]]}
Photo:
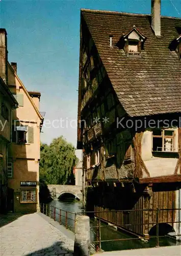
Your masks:
{"label": "green leafy tree behind the stone bridge", "polygon": [[62,136],[40,147],[40,180],[47,184],[72,184],[77,163],[75,148]]}

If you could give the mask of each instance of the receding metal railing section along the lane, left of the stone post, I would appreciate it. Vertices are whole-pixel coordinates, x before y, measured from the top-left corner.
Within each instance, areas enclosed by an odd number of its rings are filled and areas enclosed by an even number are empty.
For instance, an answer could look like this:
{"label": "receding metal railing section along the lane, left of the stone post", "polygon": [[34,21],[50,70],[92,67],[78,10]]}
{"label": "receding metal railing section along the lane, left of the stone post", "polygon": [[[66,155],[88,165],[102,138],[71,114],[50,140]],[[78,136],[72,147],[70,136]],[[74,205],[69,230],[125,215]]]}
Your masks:
{"label": "receding metal railing section along the lane, left of the stone post", "polygon": [[40,212],[54,221],[59,222],[59,224],[63,225],[66,229],[70,229],[72,232],[75,231],[76,212],[63,210],[53,205],[43,203],[40,204]]}

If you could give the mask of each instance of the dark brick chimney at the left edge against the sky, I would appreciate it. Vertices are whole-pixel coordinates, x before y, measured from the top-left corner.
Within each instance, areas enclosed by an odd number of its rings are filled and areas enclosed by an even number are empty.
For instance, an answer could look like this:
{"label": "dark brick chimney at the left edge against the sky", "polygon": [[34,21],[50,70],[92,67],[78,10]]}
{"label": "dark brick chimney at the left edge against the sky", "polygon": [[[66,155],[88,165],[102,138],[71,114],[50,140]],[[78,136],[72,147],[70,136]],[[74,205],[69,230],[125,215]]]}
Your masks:
{"label": "dark brick chimney at the left edge against the sky", "polygon": [[0,76],[8,83],[8,50],[6,29],[0,29]]}

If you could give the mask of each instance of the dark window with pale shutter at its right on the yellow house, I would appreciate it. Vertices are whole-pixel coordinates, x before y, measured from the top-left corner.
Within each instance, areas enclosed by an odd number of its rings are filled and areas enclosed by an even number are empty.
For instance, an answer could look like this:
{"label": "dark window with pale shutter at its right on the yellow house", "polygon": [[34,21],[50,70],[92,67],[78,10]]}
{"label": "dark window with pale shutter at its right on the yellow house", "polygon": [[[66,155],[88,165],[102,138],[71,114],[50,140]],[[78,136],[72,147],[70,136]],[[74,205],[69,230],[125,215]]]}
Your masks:
{"label": "dark window with pale shutter at its right on the yellow house", "polygon": [[12,142],[18,144],[34,143],[34,130],[30,126],[12,125]]}

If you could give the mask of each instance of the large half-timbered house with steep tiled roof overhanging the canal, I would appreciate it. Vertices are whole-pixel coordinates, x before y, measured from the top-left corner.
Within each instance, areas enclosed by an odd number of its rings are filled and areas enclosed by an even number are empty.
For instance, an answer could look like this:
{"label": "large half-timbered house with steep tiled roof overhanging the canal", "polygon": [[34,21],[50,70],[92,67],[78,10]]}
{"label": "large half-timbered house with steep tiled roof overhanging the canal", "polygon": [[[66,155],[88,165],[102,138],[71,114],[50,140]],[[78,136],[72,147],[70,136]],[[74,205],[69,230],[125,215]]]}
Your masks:
{"label": "large half-timbered house with steep tiled roof overhanging the canal", "polygon": [[180,233],[181,19],[160,10],[159,0],[151,15],[81,10],[84,198],[89,210],[144,209],[102,219],[145,238],[157,208]]}

